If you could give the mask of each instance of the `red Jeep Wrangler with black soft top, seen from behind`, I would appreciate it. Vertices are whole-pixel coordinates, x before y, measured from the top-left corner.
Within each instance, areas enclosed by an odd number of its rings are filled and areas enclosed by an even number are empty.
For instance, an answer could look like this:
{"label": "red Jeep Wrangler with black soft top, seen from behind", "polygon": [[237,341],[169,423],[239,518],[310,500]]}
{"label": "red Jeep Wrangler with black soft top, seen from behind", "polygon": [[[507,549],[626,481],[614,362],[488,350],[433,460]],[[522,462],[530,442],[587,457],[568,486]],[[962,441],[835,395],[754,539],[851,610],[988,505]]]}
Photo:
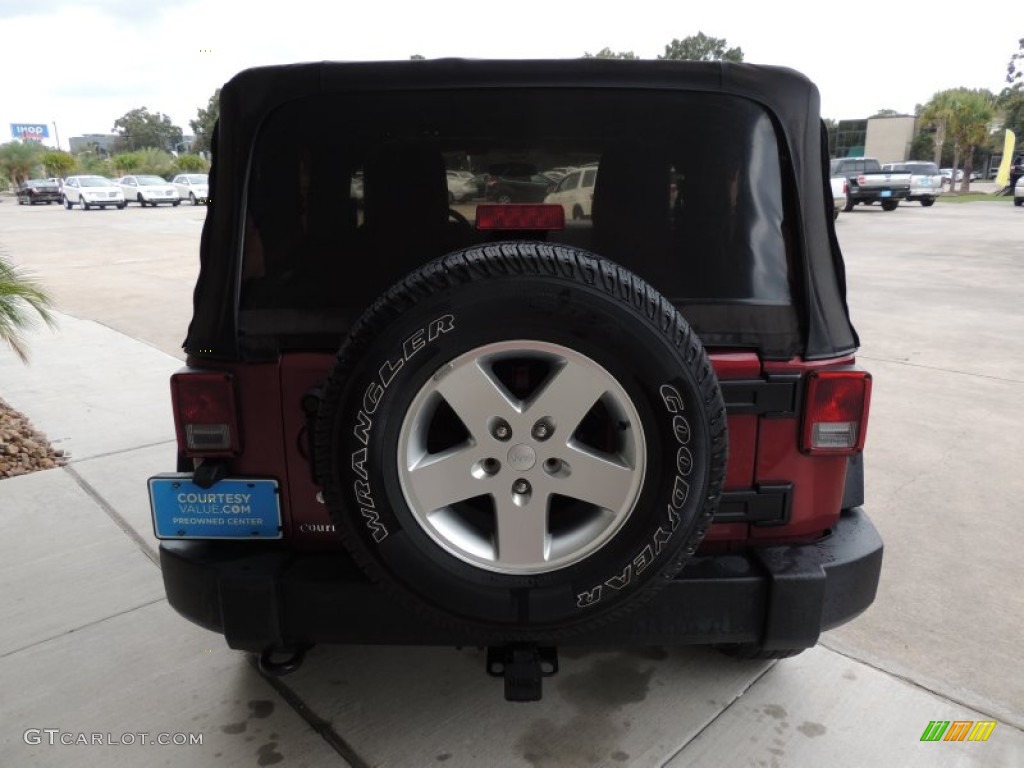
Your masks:
{"label": "red Jeep Wrangler with black soft top, seen from behind", "polygon": [[264,670],[473,644],[531,699],[559,644],[780,657],[872,601],[870,377],[801,75],[250,70],[210,189],[151,500],[171,604]]}

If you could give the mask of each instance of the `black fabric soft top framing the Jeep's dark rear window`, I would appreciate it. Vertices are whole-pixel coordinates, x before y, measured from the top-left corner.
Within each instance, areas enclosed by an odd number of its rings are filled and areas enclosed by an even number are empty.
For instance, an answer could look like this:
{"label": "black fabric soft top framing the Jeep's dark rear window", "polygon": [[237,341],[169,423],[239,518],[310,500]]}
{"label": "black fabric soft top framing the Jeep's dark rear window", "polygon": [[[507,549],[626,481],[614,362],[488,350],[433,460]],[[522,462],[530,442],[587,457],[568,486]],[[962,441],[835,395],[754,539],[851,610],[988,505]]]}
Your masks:
{"label": "black fabric soft top framing the Jeep's dark rear window", "polygon": [[[623,88],[726,93],[769,113],[781,138],[783,172],[792,174],[797,204],[792,222],[795,272],[808,359],[855,350],[857,335],[846,304],[843,259],[831,224],[827,146],[817,88],[778,67],[663,60],[436,59],[316,62],[246,70],[220,94],[210,170],[212,202],[200,248],[194,314],[184,342],[197,358],[237,358],[238,305],[245,231],[246,189],[261,123],[276,108],[342,91],[461,88]],[[315,126],[298,127],[315,130]],[[827,205],[826,205],[827,202]]]}

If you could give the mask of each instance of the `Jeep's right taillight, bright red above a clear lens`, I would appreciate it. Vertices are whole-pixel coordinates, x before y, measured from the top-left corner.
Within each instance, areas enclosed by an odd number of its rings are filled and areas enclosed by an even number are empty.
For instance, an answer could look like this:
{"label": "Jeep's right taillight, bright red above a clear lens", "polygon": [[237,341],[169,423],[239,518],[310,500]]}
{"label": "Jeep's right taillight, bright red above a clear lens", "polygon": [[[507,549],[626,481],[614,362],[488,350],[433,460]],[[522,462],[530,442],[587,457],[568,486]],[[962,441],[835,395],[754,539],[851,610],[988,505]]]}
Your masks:
{"label": "Jeep's right taillight, bright red above a clear lens", "polygon": [[812,371],[807,375],[801,449],[849,455],[864,447],[871,376],[864,371]]}

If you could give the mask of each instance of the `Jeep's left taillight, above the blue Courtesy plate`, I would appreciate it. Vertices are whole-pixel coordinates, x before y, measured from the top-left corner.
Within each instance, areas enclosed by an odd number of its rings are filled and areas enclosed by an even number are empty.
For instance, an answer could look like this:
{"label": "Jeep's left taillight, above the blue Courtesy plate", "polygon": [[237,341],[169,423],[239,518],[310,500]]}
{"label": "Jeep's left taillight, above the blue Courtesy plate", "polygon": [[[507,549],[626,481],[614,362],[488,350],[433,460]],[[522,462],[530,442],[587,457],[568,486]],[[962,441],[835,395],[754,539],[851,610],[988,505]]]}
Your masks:
{"label": "Jeep's left taillight, above the blue Courtesy plate", "polygon": [[228,374],[171,376],[178,444],[189,456],[231,456],[240,451],[234,385]]}

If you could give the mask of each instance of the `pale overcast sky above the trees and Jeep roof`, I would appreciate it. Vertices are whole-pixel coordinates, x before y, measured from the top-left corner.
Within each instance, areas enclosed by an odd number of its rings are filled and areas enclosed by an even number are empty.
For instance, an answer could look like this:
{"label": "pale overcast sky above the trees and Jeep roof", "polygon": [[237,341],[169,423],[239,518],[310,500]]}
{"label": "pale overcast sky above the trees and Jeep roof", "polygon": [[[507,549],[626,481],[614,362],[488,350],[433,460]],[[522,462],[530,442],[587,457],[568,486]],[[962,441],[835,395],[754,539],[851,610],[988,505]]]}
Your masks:
{"label": "pale overcast sky above the trees and Jeep roof", "polygon": [[[601,8],[611,10],[600,10]],[[0,0],[0,142],[9,123],[56,123],[60,143],[129,110],[188,121],[248,67],[322,59],[570,58],[604,46],[644,58],[698,31],[745,60],[792,67],[822,116],[912,114],[936,91],[1004,86],[1024,37],[1020,0],[962,5],[784,0]],[[208,52],[207,52],[208,51]]]}

